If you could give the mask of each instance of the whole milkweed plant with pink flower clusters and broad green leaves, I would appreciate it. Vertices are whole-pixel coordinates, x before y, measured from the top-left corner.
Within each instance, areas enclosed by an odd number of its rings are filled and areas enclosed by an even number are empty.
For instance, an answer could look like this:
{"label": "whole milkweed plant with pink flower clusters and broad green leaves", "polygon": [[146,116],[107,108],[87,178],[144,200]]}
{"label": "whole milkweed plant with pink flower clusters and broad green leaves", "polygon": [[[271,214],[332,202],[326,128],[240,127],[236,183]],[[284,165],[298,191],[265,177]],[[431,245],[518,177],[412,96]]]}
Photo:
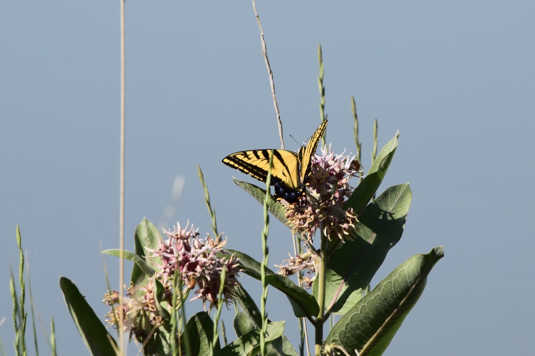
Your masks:
{"label": "whole milkweed plant with pink flower clusters and broad green leaves", "polygon": [[[320,116],[325,120],[321,56],[320,68]],[[357,155],[335,154],[331,145],[323,143],[312,159],[299,202],[276,201],[269,190],[270,175],[261,187],[234,179],[261,204],[259,208],[264,207],[265,223],[258,239],[262,260],[233,249],[232,236],[218,233],[199,168],[213,235],[201,235],[191,223],[184,227],[177,223],[160,233],[143,219],[134,233],[135,251],[124,251],[134,263],[124,287],[126,296],[121,300],[118,290],[106,291],[103,303],[109,312],[103,317],[96,315],[71,280],[61,278],[67,308],[91,354],[118,352],[113,329],[139,342],[142,352],[150,355],[382,354],[444,254],[442,247],[435,247],[412,256],[371,286],[388,251],[401,238],[412,194],[405,183],[376,196],[398,147],[399,132],[378,154],[373,149],[371,167],[364,174],[353,98],[351,106]],[[377,146],[377,130],[374,136]],[[296,241],[289,258],[276,265],[277,271],[269,268],[270,216],[288,227]],[[104,253],[120,255],[119,250]],[[259,281],[259,303],[244,289],[243,278]],[[288,298],[296,321],[268,319],[268,288]],[[195,305],[200,311],[186,313]],[[223,309],[234,312],[233,337],[220,321]],[[297,347],[285,336],[288,328],[299,330]]]}

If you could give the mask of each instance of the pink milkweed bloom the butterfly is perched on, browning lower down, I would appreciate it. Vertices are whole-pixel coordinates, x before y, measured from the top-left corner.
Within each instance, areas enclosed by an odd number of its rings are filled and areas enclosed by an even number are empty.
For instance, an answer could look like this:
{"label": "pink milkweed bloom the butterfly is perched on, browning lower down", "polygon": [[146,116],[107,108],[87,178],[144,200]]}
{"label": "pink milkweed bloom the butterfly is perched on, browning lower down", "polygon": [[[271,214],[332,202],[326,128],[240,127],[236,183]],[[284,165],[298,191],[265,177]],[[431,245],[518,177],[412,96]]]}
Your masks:
{"label": "pink milkweed bloom the butterfly is perched on, browning lower down", "polygon": [[358,219],[353,209],[346,209],[344,204],[353,193],[349,179],[361,172],[355,157],[335,155],[330,145],[322,148],[322,154],[312,159],[307,196],[299,204],[286,204],[285,216],[292,233],[301,233],[304,240],[311,240],[320,229],[330,240],[349,238]]}

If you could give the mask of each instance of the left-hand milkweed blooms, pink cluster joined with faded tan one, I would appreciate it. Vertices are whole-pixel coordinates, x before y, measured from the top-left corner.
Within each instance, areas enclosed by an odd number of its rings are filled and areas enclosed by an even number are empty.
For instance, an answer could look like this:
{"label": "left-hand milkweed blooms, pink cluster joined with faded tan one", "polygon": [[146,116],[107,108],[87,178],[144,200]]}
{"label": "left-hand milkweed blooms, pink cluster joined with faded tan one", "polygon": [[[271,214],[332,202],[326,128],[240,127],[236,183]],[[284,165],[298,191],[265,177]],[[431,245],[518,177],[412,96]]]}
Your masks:
{"label": "left-hand milkweed blooms, pink cluster joined with faded tan one", "polygon": [[[169,305],[177,307],[181,303],[180,292],[178,300],[173,302],[173,277],[175,274],[182,280],[184,290],[182,296],[188,294],[195,287],[196,296],[203,305],[208,301],[209,308],[218,306],[219,302],[226,304],[233,302],[233,288],[239,285],[238,273],[240,265],[238,259],[228,255],[223,249],[226,240],[221,241],[221,235],[213,240],[210,235],[200,239],[193,225],[182,229],[177,224],[174,231],[165,231],[167,239],[161,241],[156,249],[149,249],[153,253],[150,258],[159,258],[155,263],[158,267],[155,278],[148,279],[144,286],[131,286],[126,288],[128,297],[119,302],[119,293],[112,291],[104,295],[103,303],[112,306],[105,319],[110,325],[119,324],[119,314],[123,314],[124,331],[130,331],[140,341],[150,339],[156,327],[163,325],[164,318],[159,312],[158,305],[166,301]],[[227,254],[228,256],[222,256]],[[221,273],[225,269],[225,279],[221,281]],[[155,279],[163,286],[162,300],[155,300]],[[223,282],[221,299],[218,299],[219,288]],[[178,286],[177,286],[178,287]]]}

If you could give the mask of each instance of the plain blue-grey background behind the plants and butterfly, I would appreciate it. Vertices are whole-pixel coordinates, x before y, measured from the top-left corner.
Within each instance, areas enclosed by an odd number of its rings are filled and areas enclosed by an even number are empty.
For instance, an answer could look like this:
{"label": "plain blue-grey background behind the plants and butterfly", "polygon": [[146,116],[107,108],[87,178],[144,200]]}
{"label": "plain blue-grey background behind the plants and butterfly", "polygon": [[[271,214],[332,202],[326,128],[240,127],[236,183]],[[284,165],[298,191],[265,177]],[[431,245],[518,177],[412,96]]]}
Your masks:
{"label": "plain blue-grey background behind the plants and butterfly", "polygon": [[[373,120],[379,148],[400,131],[379,193],[409,182],[412,205],[372,287],[407,258],[444,246],[385,355],[531,353],[535,3],[258,2],[257,10],[286,149],[299,149],[319,124],[319,43],[333,151],[356,152],[351,96],[365,168]],[[108,311],[100,251],[119,247],[119,19],[119,2],[0,4],[6,354],[13,353],[9,271],[18,271],[17,224],[34,308],[47,333],[54,318],[60,355],[88,353],[60,276],[74,280],[97,315]],[[251,3],[129,1],[126,36],[125,248],[134,249],[144,217],[159,228],[189,221],[210,232],[200,165],[227,247],[259,259],[262,207],[232,177],[256,181],[221,163],[235,151],[280,145]],[[178,198],[175,180],[183,184]],[[271,221],[275,265],[292,247],[288,230]],[[118,288],[119,261],[104,260]],[[259,296],[260,284],[242,279]],[[202,310],[198,300],[188,307]],[[268,313],[286,320],[295,345],[291,307],[274,289]],[[48,354],[39,322],[37,335]]]}

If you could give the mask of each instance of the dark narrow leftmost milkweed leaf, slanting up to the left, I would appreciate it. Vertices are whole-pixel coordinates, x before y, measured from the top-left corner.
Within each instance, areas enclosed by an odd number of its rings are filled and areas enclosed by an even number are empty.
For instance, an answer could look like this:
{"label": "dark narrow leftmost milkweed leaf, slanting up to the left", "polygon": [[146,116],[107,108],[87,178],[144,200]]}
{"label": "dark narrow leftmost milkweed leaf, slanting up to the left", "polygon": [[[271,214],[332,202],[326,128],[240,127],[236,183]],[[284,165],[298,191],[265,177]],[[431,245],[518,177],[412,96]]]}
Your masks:
{"label": "dark narrow leftmost milkweed leaf, slanting up to the left", "polygon": [[93,355],[114,355],[117,343],[74,283],[65,277],[60,277],[59,287],[67,309],[89,352]]}

